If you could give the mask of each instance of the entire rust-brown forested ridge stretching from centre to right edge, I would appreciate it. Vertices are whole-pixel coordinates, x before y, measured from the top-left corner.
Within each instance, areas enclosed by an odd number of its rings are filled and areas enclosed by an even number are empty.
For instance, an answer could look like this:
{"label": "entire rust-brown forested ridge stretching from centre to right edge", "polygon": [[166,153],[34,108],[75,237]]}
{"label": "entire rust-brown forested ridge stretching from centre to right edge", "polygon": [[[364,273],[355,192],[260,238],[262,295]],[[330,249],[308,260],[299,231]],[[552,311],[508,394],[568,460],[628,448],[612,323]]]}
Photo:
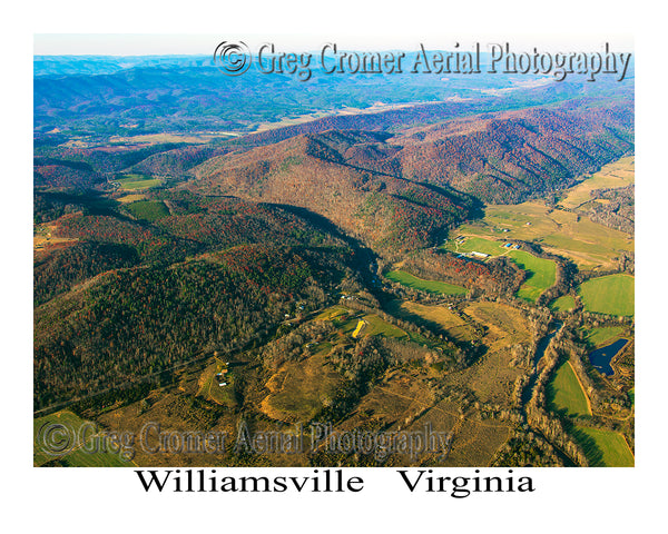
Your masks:
{"label": "entire rust-brown forested ridge stretching from centre to right edge", "polygon": [[328,130],[213,157],[186,187],[306,208],[380,251],[407,250],[473,216],[470,196],[514,204],[572,185],[632,150],[632,126],[628,105],[581,101],[395,135]]}

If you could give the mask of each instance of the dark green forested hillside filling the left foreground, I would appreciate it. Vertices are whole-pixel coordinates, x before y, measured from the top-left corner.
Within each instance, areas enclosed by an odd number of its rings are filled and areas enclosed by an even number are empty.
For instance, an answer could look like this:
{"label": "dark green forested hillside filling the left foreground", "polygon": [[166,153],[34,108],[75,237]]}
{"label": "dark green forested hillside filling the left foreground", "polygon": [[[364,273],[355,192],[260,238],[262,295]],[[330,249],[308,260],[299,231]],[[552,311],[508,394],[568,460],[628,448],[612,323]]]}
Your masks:
{"label": "dark green forested hillside filling the left foreground", "polygon": [[84,211],[35,267],[35,404],[233,350],[330,301],[366,265],[355,248],[279,207],[164,194],[155,224]]}

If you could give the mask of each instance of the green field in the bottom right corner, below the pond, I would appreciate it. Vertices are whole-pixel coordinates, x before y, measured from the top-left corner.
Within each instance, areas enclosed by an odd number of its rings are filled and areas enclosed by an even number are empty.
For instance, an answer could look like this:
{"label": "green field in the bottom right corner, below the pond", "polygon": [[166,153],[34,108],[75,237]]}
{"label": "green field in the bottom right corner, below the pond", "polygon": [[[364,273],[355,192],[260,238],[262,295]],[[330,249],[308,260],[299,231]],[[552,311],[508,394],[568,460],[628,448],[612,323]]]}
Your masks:
{"label": "green field in the bottom right corner, below the pond", "polygon": [[636,463],[626,439],[617,432],[576,426],[572,435],[591,466],[632,467]]}

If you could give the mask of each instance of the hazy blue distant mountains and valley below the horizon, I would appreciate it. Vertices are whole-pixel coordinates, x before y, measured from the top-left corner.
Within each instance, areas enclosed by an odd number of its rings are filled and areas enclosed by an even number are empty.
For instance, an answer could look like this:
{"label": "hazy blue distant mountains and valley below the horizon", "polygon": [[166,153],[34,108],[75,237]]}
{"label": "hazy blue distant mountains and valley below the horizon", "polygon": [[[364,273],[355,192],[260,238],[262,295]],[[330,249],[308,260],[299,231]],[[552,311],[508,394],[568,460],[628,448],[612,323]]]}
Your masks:
{"label": "hazy blue distant mountains and valley below the horizon", "polygon": [[[235,131],[313,113],[355,115],[382,105],[445,102],[458,115],[519,109],[581,95],[613,97],[622,83],[558,83],[544,76],[318,75],[308,82],[249,69],[225,76],[206,56],[35,58],[35,131],[85,136]],[[399,115],[392,115],[392,111]],[[371,129],[332,117],[330,128]],[[390,110],[385,127],[409,126]],[[415,119],[415,118],[414,118]],[[433,118],[432,118],[433,119]],[[443,120],[443,117],[438,120]],[[436,120],[436,121],[438,121]],[[434,122],[435,120],[431,120]],[[390,122],[393,122],[390,123]],[[416,121],[413,120],[414,126]],[[380,125],[379,125],[380,127]],[[262,135],[258,138],[262,140]]]}

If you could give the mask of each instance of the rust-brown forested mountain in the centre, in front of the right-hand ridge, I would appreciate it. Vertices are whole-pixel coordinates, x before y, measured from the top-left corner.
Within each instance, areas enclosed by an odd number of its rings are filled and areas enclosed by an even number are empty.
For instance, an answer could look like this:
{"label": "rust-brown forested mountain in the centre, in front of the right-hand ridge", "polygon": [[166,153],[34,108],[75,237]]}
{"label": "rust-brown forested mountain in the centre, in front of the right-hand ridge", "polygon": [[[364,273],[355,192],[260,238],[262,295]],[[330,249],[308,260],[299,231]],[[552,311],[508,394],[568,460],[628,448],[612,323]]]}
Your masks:
{"label": "rust-brown forested mountain in the centre, in front of the right-hand ridge", "polygon": [[[370,136],[343,135],[350,142],[382,137]],[[348,165],[331,138],[299,136],[213,158],[185,187],[306,208],[381,253],[432,246],[479,208],[466,195]]]}

